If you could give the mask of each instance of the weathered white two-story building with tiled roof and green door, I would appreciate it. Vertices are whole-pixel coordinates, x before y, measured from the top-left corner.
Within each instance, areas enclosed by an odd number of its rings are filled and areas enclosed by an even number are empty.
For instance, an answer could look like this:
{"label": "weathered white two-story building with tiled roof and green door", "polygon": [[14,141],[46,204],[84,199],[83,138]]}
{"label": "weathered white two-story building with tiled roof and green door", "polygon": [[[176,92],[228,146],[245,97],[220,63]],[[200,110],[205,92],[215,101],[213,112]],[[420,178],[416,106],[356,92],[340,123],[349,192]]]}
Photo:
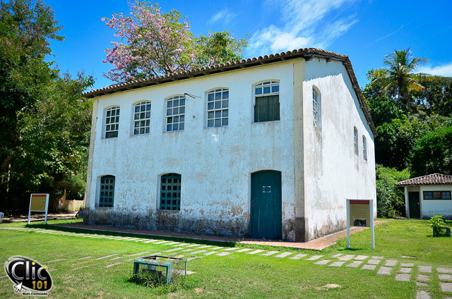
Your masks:
{"label": "weathered white two-story building with tiled roof and green door", "polygon": [[85,223],[306,242],[376,211],[375,128],[347,56],[299,49],[86,92]]}

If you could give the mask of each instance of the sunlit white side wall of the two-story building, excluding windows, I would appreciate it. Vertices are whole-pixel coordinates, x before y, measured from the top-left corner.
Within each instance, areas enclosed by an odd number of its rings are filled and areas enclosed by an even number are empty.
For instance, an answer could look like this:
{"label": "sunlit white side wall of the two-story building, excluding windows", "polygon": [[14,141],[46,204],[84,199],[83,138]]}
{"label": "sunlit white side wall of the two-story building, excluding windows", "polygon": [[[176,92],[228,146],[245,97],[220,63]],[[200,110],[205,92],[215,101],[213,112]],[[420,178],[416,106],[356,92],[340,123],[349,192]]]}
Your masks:
{"label": "sunlit white side wall of the two-story building, excluding windows", "polygon": [[[314,127],[313,85],[321,92],[320,130]],[[347,199],[374,200],[376,216],[374,135],[341,61],[327,63],[317,57],[307,61],[303,97],[305,205],[309,238],[316,238],[345,228]],[[355,154],[354,127],[359,154]]]}

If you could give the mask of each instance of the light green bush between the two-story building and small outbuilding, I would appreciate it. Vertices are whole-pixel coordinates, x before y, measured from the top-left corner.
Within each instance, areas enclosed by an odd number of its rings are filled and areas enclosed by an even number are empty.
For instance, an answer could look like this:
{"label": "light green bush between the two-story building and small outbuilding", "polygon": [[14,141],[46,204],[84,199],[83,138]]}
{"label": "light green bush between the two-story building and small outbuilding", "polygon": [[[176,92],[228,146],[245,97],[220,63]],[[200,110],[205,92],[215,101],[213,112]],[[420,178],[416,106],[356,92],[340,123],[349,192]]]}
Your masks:
{"label": "light green bush between the two-story building and small outbuilding", "polygon": [[405,196],[396,183],[409,178],[410,173],[406,169],[398,171],[376,165],[376,211],[379,217],[405,215]]}

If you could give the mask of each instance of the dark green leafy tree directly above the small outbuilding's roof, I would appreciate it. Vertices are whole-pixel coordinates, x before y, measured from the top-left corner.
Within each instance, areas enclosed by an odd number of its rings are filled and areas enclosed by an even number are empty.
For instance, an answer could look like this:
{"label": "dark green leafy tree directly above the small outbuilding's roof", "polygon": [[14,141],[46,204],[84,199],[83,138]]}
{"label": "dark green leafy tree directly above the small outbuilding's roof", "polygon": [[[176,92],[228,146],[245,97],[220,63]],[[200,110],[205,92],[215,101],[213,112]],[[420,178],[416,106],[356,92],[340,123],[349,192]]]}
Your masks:
{"label": "dark green leafy tree directly above the small outbuilding's roof", "polygon": [[414,176],[452,175],[452,126],[436,128],[415,141],[410,155]]}

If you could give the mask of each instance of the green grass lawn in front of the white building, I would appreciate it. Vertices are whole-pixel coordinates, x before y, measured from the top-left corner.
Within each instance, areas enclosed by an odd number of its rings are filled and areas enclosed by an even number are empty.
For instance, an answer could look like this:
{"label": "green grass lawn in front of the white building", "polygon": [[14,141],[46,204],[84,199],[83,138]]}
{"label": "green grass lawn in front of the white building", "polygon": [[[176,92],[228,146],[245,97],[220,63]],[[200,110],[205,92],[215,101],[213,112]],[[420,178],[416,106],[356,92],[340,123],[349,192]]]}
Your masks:
{"label": "green grass lawn in front of the white building", "polygon": [[[49,221],[49,224],[55,223],[57,221]],[[447,224],[452,226],[451,221]],[[7,226],[26,225],[1,224],[0,228]],[[62,230],[54,226],[44,226],[42,223],[33,223],[30,227]],[[350,250],[345,248],[345,239],[321,252],[290,248],[270,249],[255,245],[252,248],[305,252],[309,256],[324,255],[323,258],[328,260],[335,260],[331,257],[338,253],[383,256],[385,260],[394,258],[398,260],[398,264],[391,276],[376,275],[383,262],[376,270],[361,270],[360,267],[350,268],[345,265],[316,265],[313,261],[306,260],[307,257],[290,260],[288,257],[234,252],[224,257],[209,255],[191,260],[188,268],[196,273],[188,277],[186,285],[190,287],[181,287],[175,292],[163,295],[158,295],[158,292],[162,291],[161,288],[146,288],[129,282],[133,261],[126,262],[130,258],[126,256],[145,251],[163,252],[175,248],[172,245],[0,229],[0,259],[1,262],[6,262],[8,257],[22,255],[48,266],[54,283],[49,291],[49,298],[415,298],[418,288],[429,292],[432,298],[452,297],[452,293],[441,291],[435,270],[436,267],[452,268],[451,238],[432,238],[432,228],[429,228],[427,221],[422,220],[388,219],[386,223],[376,226],[375,233],[375,250],[369,249],[369,230],[352,235]],[[200,243],[196,240],[185,241]],[[214,245],[226,246],[222,243]],[[114,257],[124,258],[94,260],[95,257],[114,254],[119,254]],[[88,256],[90,258],[78,260]],[[59,259],[65,260],[46,264],[47,261]],[[106,267],[115,262],[123,263]],[[411,281],[394,280],[400,269],[400,262],[415,264],[415,267],[412,267]],[[427,286],[416,286],[417,265],[434,267]],[[0,277],[3,275],[4,271],[0,273]],[[326,288],[328,283],[337,284],[340,288]],[[20,295],[13,292],[13,283],[7,277],[0,278],[0,298],[20,298]]]}

